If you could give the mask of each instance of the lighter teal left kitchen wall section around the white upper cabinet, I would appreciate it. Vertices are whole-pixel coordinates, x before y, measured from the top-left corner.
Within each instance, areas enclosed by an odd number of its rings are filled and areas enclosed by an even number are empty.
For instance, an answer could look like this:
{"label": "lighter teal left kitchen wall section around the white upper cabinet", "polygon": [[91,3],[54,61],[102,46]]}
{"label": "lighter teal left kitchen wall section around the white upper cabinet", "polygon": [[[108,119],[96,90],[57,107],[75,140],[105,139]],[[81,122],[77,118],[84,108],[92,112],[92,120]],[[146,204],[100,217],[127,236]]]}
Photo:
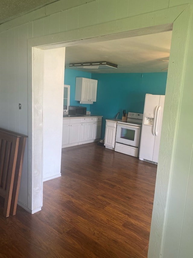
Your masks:
{"label": "lighter teal left kitchen wall section around the white upper cabinet", "polygon": [[70,85],[70,106],[86,106],[87,111],[90,111],[90,105],[80,104],[79,101],[75,100],[76,77],[91,78],[91,73],[65,69],[64,84]]}

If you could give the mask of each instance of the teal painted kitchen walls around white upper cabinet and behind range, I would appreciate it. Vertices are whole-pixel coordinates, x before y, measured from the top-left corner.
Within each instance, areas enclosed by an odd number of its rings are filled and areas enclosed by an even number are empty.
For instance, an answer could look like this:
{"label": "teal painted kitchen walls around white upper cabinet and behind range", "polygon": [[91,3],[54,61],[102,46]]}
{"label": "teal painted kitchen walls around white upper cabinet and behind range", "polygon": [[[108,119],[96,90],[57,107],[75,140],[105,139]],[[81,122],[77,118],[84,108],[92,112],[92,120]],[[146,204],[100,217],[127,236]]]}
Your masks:
{"label": "teal painted kitchen walls around white upper cabinet and behind range", "polygon": [[91,74],[71,69],[65,69],[64,83],[70,85],[70,105],[79,106],[75,101],[76,77],[85,77],[98,80],[97,98],[92,105],[85,105],[93,115],[101,115],[101,138],[105,135],[106,119],[115,118],[122,111],[126,113],[143,113],[145,94],[165,95],[167,73],[106,73]]}

